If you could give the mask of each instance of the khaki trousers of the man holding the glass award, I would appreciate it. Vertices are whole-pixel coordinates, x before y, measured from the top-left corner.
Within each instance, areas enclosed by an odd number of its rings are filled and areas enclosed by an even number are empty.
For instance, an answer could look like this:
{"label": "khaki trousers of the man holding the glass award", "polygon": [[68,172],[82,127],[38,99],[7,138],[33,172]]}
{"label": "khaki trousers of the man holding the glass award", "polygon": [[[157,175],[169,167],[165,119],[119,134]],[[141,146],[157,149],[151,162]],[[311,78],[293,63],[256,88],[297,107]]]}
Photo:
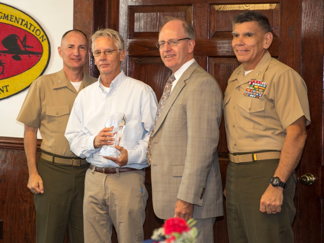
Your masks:
{"label": "khaki trousers of the man holding the glass award", "polygon": [[85,179],[85,242],[110,243],[114,225],[119,243],[142,243],[148,198],[145,171],[102,174],[94,169],[87,170]]}

